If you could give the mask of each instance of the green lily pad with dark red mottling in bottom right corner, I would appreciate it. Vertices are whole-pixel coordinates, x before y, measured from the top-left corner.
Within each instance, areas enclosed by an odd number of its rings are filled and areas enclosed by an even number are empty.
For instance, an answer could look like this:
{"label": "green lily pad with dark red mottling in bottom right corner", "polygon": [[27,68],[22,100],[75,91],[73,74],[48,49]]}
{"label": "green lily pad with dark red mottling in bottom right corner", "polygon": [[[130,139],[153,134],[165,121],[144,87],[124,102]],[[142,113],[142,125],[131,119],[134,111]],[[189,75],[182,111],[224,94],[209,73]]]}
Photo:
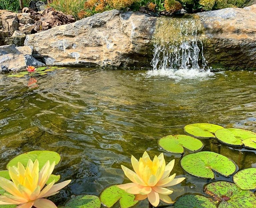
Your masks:
{"label": "green lily pad with dark red mottling in bottom right corner", "polygon": [[206,194],[220,202],[218,208],[255,208],[256,196],[253,192],[240,189],[236,184],[227,181],[216,181],[205,186]]}

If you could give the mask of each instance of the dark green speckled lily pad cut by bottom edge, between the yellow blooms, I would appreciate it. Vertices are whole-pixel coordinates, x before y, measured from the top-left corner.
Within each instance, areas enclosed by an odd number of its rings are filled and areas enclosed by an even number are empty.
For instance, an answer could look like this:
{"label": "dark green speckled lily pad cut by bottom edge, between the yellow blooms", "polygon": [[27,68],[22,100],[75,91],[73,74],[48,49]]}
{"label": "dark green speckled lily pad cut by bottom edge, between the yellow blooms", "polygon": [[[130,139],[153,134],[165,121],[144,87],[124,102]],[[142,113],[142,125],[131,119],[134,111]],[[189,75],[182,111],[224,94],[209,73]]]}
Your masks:
{"label": "dark green speckled lily pad cut by bottom edge, between the yellow blooms", "polygon": [[[100,208],[100,199],[93,195],[78,195],[70,199],[62,208]],[[59,207],[60,208],[60,207]]]}

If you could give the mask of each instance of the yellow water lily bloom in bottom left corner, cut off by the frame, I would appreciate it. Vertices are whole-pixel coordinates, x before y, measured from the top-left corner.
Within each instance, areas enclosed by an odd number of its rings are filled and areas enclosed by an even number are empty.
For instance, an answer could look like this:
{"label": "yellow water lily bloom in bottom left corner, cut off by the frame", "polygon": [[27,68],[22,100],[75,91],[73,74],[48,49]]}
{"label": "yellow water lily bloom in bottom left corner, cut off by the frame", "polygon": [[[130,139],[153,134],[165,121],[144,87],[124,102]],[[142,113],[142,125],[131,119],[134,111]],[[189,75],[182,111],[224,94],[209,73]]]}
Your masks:
{"label": "yellow water lily bloom in bottom left corner, cut off by the frame", "polygon": [[16,204],[16,208],[57,208],[52,201],[43,198],[59,193],[59,190],[67,186],[71,180],[55,185],[53,180],[45,186],[54,166],[55,162],[50,164],[47,161],[39,172],[38,160],[34,163],[29,160],[26,169],[20,162],[18,167],[9,167],[12,181],[0,177],[0,187],[8,192],[0,195],[0,205]]}

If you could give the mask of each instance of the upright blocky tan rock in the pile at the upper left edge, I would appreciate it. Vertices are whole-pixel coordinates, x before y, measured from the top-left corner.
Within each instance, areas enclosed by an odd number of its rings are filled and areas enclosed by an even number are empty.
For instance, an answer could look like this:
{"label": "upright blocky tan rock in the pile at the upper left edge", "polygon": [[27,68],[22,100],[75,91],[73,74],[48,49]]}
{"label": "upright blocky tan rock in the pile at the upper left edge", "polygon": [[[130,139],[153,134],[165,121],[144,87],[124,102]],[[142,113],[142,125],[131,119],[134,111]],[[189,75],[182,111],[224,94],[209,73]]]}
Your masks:
{"label": "upright blocky tan rock in the pile at the upper left edge", "polygon": [[2,24],[3,28],[12,35],[15,30],[19,28],[18,17],[16,13],[13,12],[3,12],[2,13]]}

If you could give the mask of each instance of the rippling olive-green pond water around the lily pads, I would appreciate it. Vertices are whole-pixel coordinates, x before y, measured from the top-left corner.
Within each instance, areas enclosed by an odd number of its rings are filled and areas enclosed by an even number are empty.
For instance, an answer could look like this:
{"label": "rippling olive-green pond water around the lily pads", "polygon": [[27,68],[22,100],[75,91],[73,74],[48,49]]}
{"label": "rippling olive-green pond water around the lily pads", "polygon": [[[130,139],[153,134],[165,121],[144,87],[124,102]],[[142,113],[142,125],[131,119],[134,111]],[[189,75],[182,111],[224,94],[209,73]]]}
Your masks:
{"label": "rippling olive-green pond water around the lily pads", "polygon": [[[128,182],[121,164],[131,167],[131,154],[139,158],[145,150],[151,156],[160,154],[158,139],[184,133],[186,124],[209,122],[256,131],[255,71],[176,81],[148,77],[143,70],[67,69],[36,77],[34,88],[27,86],[29,78],[0,75],[0,170],[27,151],[60,153],[55,174],[72,179],[51,198],[60,205],[72,195],[99,195],[107,186]],[[202,141],[204,150],[227,156],[239,169],[256,167],[253,150]],[[211,182],[185,173],[181,155],[164,155],[166,162],[176,160],[173,172],[187,178],[172,187],[173,200],[202,193],[203,185]]]}

